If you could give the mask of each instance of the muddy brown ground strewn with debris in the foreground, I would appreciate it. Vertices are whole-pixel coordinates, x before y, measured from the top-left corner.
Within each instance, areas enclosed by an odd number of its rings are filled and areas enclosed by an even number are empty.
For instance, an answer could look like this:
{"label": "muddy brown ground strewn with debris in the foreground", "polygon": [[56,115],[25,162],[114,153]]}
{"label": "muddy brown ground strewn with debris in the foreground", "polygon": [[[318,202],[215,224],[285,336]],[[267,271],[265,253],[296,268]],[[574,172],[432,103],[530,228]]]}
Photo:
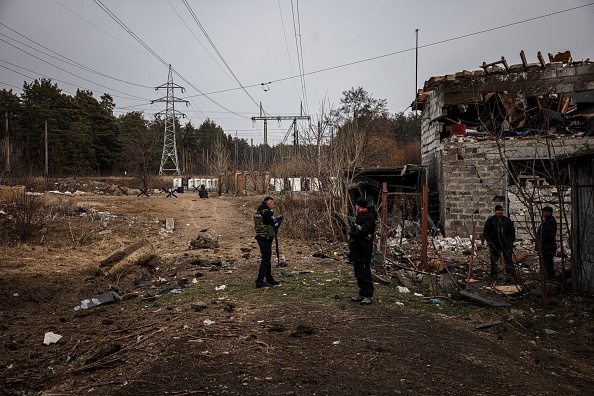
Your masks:
{"label": "muddy brown ground strewn with debris in the foreground", "polygon": [[[594,389],[587,298],[563,293],[543,307],[515,297],[511,307],[495,309],[454,294],[444,304],[424,304],[399,293],[394,281],[376,284],[374,304],[361,306],[350,302],[356,283],[344,246],[282,238],[288,266],[273,268],[282,284],[256,289],[259,251],[250,216],[261,197],[87,190],[65,198],[71,214],[56,213],[37,242],[2,246],[0,394],[591,395]],[[175,221],[172,232],[167,218]],[[205,229],[219,235],[219,246],[188,249]],[[104,274],[102,260],[142,240],[158,255],[150,267]],[[314,257],[319,252],[330,254]],[[148,283],[139,287],[143,274]],[[110,290],[123,301],[74,309]],[[489,321],[499,323],[475,328]],[[44,345],[48,332],[61,338]]]}

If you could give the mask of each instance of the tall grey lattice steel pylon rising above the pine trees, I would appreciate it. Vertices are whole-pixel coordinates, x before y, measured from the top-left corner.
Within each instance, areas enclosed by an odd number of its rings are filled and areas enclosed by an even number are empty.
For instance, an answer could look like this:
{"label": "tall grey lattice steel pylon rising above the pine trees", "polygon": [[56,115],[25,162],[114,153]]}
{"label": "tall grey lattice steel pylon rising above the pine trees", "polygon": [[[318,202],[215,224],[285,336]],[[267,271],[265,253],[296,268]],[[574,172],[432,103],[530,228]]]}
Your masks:
{"label": "tall grey lattice steel pylon rising above the pine trees", "polygon": [[174,175],[179,175],[179,163],[177,160],[177,146],[175,144],[175,118],[176,116],[181,116],[185,118],[185,114],[175,110],[175,103],[176,102],[185,102],[186,106],[188,105],[187,100],[176,98],[174,95],[175,89],[181,89],[182,93],[184,92],[184,88],[176,85],[173,83],[173,76],[171,74],[171,65],[169,65],[169,78],[167,78],[167,84],[161,85],[155,88],[155,90],[159,90],[160,88],[167,88],[167,96],[155,99],[151,101],[152,103],[155,102],[165,102],[165,111],[161,111],[157,113],[165,114],[165,133],[163,136],[163,156],[161,157],[161,166],[159,167],[159,175],[163,175],[166,172],[173,171]]}

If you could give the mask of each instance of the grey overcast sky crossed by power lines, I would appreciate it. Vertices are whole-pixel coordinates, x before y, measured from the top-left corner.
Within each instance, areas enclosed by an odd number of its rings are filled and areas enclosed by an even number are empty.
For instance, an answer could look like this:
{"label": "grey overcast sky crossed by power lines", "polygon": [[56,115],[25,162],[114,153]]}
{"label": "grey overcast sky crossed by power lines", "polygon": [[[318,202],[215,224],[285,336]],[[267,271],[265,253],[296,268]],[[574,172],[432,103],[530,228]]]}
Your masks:
{"label": "grey overcast sky crossed by power lines", "polygon": [[[418,34],[418,69],[415,61]],[[345,90],[363,87],[391,113],[410,111],[432,76],[478,70],[541,51],[594,59],[591,1],[0,0],[0,89],[47,77],[65,93],[109,93],[116,115],[164,109],[168,64],[192,124],[263,141],[271,116],[317,120]],[[415,78],[415,71],[418,78]],[[303,75],[303,77],[300,77]],[[268,84],[269,83],[269,84]],[[264,84],[264,85],[263,85]],[[243,87],[243,88],[242,88]],[[290,121],[268,123],[281,143]],[[291,143],[292,140],[288,140]]]}

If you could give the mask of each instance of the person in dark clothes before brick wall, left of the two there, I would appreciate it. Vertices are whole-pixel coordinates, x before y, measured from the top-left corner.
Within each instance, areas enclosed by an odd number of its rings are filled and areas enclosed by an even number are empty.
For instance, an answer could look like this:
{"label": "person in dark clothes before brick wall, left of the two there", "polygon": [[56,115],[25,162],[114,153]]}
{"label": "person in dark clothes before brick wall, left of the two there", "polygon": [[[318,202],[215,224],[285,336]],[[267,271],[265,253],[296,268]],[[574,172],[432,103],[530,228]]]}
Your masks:
{"label": "person in dark clothes before brick wall, left of the two there", "polygon": [[489,255],[491,258],[491,278],[497,278],[499,274],[499,257],[503,254],[505,272],[514,276],[516,271],[513,261],[513,248],[516,240],[516,228],[514,222],[503,215],[503,206],[495,206],[495,215],[485,222],[483,229],[485,240],[489,244]]}

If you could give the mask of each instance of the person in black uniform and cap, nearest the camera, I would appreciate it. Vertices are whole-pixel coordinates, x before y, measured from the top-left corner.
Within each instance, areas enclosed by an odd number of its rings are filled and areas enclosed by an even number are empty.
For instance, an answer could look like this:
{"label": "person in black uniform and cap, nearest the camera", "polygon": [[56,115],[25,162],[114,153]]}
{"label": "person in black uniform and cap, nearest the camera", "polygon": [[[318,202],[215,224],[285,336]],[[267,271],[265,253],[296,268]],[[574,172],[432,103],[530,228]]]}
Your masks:
{"label": "person in black uniform and cap, nearest the camera", "polygon": [[371,257],[375,234],[375,217],[367,211],[367,200],[357,198],[355,202],[357,217],[348,235],[349,260],[353,262],[359,294],[351,298],[353,302],[371,304],[373,302],[373,280],[371,278]]}

